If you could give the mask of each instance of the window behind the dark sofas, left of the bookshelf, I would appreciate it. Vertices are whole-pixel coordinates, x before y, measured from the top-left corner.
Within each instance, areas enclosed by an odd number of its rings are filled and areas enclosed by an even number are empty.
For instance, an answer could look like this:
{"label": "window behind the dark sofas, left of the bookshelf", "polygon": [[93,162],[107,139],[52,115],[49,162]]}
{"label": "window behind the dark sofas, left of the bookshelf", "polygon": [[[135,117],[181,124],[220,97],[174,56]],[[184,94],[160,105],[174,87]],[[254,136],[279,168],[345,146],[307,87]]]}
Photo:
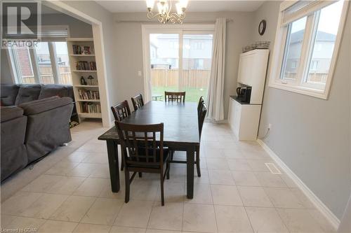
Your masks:
{"label": "window behind the dark sofas, left of the bookshelf", "polygon": [[34,48],[14,46],[8,52],[16,83],[72,85],[66,42],[39,42]]}

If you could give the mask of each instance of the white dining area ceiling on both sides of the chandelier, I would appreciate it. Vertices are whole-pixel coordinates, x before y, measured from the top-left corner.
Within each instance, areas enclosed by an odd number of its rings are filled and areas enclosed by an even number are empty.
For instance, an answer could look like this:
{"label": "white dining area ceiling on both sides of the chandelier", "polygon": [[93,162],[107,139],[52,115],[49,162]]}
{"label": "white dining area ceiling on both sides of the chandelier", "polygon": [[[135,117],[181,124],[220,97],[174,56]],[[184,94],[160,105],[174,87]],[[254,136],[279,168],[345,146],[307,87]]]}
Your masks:
{"label": "white dining area ceiling on both sides of the chandelier", "polygon": [[[174,2],[175,0],[173,0]],[[112,13],[146,12],[146,3],[140,0],[96,1]],[[263,1],[209,1],[189,0],[187,12],[255,11]]]}

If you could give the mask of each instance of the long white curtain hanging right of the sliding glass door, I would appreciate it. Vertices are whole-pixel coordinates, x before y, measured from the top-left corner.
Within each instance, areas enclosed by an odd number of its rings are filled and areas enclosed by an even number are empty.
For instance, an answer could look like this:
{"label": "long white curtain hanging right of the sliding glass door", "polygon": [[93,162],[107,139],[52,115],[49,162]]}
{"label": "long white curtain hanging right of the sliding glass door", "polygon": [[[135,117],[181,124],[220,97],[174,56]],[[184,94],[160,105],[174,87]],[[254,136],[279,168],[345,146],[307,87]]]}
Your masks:
{"label": "long white curtain hanging right of the sliding glass door", "polygon": [[213,55],[211,76],[207,96],[207,119],[211,121],[224,120],[224,70],[225,70],[225,27],[227,20],[216,20],[213,35]]}

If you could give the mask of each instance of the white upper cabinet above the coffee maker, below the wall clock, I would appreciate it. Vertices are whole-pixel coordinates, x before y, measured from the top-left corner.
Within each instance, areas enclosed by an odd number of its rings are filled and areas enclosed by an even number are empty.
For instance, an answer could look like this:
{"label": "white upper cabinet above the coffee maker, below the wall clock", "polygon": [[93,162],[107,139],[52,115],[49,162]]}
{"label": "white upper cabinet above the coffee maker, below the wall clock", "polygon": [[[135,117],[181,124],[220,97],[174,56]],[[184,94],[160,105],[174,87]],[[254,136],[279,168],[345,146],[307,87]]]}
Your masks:
{"label": "white upper cabinet above the coffee maker, below the wall clock", "polygon": [[240,55],[238,83],[252,88],[250,104],[262,104],[269,53],[270,50],[252,50]]}

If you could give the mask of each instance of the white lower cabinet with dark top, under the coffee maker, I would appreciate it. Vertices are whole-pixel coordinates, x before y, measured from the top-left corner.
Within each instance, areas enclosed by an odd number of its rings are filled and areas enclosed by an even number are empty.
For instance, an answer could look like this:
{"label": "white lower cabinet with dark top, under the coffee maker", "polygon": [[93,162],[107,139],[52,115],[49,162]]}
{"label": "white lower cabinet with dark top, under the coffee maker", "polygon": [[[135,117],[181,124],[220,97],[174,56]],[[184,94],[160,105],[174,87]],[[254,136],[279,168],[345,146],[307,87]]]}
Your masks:
{"label": "white lower cabinet with dark top, under the coffee maker", "polygon": [[260,111],[260,104],[241,104],[230,98],[228,122],[237,139],[256,141]]}

